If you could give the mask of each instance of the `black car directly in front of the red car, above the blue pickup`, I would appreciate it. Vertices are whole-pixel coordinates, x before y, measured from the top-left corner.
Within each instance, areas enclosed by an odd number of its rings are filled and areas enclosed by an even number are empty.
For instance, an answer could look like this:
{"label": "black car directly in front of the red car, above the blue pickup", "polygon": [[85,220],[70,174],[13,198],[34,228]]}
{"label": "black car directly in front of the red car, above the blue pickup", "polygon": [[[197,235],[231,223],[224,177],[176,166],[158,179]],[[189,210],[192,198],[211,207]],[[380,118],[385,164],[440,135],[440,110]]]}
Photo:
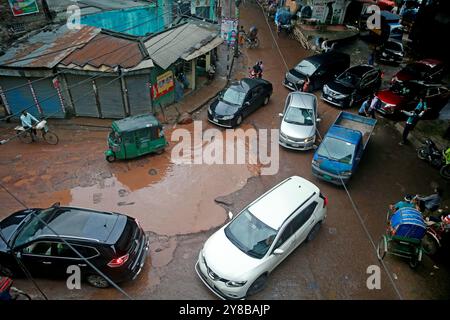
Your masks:
{"label": "black car directly in front of the red car, above the blue pickup", "polygon": [[324,85],[322,99],[341,108],[351,107],[378,91],[380,86],[380,70],[371,65],[357,65]]}

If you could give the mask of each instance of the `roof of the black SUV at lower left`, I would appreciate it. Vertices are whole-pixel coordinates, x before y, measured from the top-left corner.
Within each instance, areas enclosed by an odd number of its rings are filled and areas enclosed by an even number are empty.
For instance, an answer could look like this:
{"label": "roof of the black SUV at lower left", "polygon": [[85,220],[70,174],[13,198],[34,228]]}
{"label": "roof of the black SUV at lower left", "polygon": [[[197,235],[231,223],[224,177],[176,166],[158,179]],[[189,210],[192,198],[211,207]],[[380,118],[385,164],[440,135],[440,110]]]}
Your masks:
{"label": "roof of the black SUV at lower left", "polygon": [[48,226],[42,228],[41,232],[35,235],[36,238],[54,237],[55,231],[58,236],[64,238],[88,239],[104,243],[119,221],[121,224],[126,222],[126,216],[117,213],[75,207],[55,207],[54,210],[56,210],[54,216],[50,221],[46,221]]}

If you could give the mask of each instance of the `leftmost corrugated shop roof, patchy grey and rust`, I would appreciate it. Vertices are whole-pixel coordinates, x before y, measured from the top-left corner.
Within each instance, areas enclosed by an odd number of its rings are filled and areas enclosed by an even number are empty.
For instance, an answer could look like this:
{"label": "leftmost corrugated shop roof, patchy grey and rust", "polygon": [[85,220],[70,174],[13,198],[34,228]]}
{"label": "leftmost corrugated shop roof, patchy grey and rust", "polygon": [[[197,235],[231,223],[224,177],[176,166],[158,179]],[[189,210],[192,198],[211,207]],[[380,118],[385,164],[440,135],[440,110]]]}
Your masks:
{"label": "leftmost corrugated shop roof, patchy grey and rust", "polygon": [[16,68],[53,68],[100,31],[88,26],[83,26],[80,30],[70,30],[64,25],[55,30],[40,32],[10,48],[0,57],[0,65]]}

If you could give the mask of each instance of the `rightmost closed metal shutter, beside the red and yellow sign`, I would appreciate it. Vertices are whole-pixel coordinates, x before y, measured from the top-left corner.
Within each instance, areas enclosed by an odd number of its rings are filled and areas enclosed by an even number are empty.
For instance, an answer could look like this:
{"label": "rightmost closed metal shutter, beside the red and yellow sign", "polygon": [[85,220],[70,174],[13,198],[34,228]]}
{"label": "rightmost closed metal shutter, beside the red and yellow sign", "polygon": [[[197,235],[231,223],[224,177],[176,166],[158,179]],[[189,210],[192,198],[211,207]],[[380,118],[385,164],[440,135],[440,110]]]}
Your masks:
{"label": "rightmost closed metal shutter, beside the red and yellow sign", "polygon": [[136,75],[126,78],[128,101],[131,115],[152,112],[148,75]]}

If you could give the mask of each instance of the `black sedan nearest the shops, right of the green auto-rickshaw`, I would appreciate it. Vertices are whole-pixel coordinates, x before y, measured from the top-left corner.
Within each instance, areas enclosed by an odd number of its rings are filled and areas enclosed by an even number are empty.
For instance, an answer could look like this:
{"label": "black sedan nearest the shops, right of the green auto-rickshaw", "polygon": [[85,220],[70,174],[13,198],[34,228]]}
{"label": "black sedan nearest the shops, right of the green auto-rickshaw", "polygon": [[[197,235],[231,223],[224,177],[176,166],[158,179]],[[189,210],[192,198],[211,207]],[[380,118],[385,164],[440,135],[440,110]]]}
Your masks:
{"label": "black sedan nearest the shops, right of the green auto-rickshaw", "polygon": [[269,103],[272,92],[272,84],[264,79],[233,82],[209,106],[208,120],[227,128],[239,126],[246,116]]}

